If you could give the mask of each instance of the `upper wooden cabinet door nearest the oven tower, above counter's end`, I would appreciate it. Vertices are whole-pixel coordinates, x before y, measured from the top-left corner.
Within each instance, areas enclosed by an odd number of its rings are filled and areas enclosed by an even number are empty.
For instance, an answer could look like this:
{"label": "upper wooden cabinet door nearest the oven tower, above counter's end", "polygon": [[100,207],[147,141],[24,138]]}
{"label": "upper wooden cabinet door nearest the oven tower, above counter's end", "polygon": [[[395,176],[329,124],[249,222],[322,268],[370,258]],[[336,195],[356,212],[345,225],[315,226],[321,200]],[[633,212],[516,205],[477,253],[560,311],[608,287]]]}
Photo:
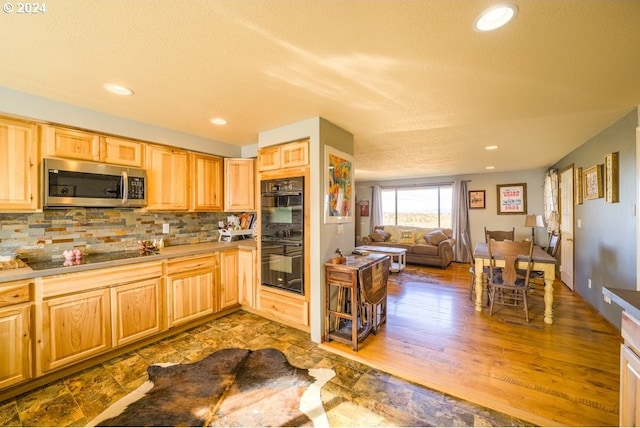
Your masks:
{"label": "upper wooden cabinet door nearest the oven tower, above counter's end", "polygon": [[256,209],[255,162],[253,159],[224,160],[225,211],[253,211]]}

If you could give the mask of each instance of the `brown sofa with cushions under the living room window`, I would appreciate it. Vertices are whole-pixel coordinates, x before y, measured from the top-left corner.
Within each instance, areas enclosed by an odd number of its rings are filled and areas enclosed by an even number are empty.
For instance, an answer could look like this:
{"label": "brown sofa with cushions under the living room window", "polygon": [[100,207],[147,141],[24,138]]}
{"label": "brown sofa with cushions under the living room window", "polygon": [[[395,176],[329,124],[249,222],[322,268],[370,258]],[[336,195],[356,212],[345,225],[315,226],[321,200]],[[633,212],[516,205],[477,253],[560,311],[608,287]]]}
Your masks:
{"label": "brown sofa with cushions under the living room window", "polygon": [[453,261],[456,240],[448,228],[411,226],[376,226],[374,232],[364,236],[364,245],[395,247],[407,250],[407,263],[437,266],[442,269]]}

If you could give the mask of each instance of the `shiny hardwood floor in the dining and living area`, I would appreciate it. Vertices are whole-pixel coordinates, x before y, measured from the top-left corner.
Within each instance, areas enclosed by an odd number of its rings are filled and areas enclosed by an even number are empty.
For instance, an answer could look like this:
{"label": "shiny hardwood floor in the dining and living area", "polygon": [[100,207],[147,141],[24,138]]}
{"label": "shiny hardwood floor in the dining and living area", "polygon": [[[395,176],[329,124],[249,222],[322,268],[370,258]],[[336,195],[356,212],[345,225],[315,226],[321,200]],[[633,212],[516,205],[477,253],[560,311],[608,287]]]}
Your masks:
{"label": "shiny hardwood floor in the dining and living area", "polygon": [[353,352],[374,368],[542,426],[617,426],[619,331],[556,280],[554,324],[542,289],[522,309],[476,312],[468,264],[391,274],[387,323]]}

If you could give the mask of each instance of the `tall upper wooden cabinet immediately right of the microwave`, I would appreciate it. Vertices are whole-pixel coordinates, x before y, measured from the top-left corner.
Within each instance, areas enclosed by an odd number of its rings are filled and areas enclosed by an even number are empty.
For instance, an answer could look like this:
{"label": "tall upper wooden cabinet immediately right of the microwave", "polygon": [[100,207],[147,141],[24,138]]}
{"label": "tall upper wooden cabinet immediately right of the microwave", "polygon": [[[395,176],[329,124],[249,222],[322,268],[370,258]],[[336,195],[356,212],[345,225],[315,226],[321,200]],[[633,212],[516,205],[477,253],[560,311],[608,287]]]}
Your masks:
{"label": "tall upper wooden cabinet immediately right of the microwave", "polygon": [[147,209],[188,209],[189,153],[153,144],[147,145]]}

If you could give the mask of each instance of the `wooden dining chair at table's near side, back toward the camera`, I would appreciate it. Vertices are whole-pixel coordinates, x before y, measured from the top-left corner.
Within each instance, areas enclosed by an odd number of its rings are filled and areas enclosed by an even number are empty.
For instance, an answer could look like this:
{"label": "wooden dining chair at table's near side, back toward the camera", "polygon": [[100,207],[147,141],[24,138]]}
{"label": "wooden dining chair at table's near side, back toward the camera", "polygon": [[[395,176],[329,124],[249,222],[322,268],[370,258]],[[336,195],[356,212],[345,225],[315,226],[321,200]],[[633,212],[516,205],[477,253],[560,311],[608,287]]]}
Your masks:
{"label": "wooden dining chair at table's near side, back toward the camera", "polygon": [[[527,291],[531,274],[531,259],[533,255],[533,241],[510,242],[489,241],[489,316],[493,316],[495,304],[503,306],[524,306],[525,319],[529,322],[529,306]],[[504,267],[500,271],[496,262],[504,260]],[[518,273],[519,261],[527,263],[524,276]]]}

